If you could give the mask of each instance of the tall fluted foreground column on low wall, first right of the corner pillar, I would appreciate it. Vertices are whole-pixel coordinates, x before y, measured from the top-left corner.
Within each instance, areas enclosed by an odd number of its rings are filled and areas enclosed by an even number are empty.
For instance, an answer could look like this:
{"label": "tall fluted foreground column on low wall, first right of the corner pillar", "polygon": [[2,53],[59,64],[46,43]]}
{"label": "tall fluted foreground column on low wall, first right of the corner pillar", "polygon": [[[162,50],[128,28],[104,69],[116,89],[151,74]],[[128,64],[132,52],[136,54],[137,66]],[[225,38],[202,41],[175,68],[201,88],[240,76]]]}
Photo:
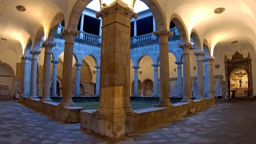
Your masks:
{"label": "tall fluted foreground column on low wall, first right of the corner pillar", "polygon": [[170,107],[170,81],[169,81],[169,58],[168,58],[168,36],[172,36],[169,30],[153,32],[159,38],[160,50],[160,100],[156,106]]}

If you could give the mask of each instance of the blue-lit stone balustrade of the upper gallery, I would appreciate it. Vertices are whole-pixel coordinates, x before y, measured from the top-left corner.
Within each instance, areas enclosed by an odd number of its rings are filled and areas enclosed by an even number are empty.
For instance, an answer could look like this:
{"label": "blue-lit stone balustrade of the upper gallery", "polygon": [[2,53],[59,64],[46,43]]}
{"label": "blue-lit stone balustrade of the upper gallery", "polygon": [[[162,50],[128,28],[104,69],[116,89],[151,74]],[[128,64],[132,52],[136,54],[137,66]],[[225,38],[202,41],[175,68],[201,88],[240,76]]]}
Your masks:
{"label": "blue-lit stone balustrade of the upper gallery", "polygon": [[[63,30],[64,30],[64,27],[60,25],[60,26],[58,26],[56,33],[60,34]],[[174,36],[179,35],[176,27],[170,28],[170,32],[172,32]],[[99,43],[99,44],[101,43],[101,36],[96,36],[94,34],[89,34],[86,32],[80,32],[80,35],[76,36],[76,38],[80,38],[80,39],[83,39],[88,42],[94,42],[94,43]],[[157,39],[157,37],[153,35],[153,32],[151,32],[149,34],[132,37],[131,44],[150,42],[150,41],[156,40],[156,39]]]}

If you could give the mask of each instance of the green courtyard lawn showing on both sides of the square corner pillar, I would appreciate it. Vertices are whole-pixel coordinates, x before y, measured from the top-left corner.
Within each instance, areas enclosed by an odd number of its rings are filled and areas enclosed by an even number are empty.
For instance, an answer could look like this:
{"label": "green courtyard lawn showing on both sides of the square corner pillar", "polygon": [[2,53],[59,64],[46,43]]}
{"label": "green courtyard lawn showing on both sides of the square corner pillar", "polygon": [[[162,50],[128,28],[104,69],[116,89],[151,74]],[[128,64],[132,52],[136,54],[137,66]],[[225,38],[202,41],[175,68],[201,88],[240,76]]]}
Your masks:
{"label": "green courtyard lawn showing on both sides of the square corner pillar", "polygon": [[[99,106],[99,102],[76,102],[77,106],[84,108],[84,110],[93,110],[97,109]],[[154,107],[157,103],[149,103],[149,102],[131,102],[131,107],[133,110],[143,109],[143,108],[151,108]]]}

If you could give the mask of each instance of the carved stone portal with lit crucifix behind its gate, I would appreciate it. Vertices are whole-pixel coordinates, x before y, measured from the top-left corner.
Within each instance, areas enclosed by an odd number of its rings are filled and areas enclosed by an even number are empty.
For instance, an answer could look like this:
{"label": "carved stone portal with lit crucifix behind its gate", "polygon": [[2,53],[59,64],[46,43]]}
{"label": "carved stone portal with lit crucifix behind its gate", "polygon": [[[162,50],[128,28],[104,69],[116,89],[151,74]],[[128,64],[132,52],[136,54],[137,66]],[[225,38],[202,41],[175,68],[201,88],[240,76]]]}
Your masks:
{"label": "carved stone portal with lit crucifix behind its gate", "polygon": [[232,59],[225,55],[225,98],[252,97],[252,66],[250,54],[244,58],[243,54],[235,52]]}

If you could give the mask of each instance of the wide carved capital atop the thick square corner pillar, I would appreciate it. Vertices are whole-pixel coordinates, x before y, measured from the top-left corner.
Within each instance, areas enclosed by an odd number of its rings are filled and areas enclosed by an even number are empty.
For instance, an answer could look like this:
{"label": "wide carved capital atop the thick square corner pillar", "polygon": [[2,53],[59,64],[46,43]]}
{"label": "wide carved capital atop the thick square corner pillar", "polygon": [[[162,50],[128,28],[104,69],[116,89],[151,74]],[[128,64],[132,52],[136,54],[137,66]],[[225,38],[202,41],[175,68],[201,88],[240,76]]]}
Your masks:
{"label": "wide carved capital atop the thick square corner pillar", "polygon": [[120,12],[122,14],[130,16],[131,18],[138,18],[138,13],[132,12],[128,7],[121,6],[120,4],[118,4],[118,2],[116,2],[116,4],[112,6],[104,8],[100,12],[96,12],[96,18],[106,16],[107,14],[111,14],[112,12]]}

